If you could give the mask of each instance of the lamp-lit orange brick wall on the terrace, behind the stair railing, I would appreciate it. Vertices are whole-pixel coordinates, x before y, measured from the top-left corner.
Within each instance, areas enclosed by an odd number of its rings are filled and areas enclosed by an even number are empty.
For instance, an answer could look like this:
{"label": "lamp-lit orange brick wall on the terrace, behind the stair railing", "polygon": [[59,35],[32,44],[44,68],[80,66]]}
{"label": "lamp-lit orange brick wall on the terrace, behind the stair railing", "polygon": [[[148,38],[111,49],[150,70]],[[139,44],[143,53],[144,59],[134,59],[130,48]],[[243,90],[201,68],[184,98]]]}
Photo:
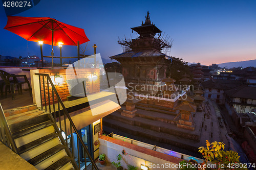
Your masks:
{"label": "lamp-lit orange brick wall on the terrace, behind the stair railing", "polygon": [[[80,78],[91,78],[92,75],[96,74],[98,77],[95,77],[90,79],[89,81],[86,81],[86,92],[95,93],[99,92],[100,90],[100,81],[99,81],[99,68],[83,68],[83,69],[76,69],[76,75],[74,74],[73,69],[39,69],[39,73],[41,74],[48,74],[61,98],[62,101],[67,101],[67,97],[71,96],[69,92],[69,84],[67,83],[67,80],[70,79],[80,79]],[[56,83],[54,76],[59,75],[63,78],[63,81],[61,83]],[[93,83],[91,82],[93,81]],[[41,84],[41,94],[42,94],[42,103],[45,105],[45,96],[44,96],[44,87],[46,89],[46,102],[48,105],[48,87],[47,87],[47,79],[45,78],[45,82],[42,81],[42,78],[40,79]],[[53,103],[52,98],[52,87],[49,83],[49,91],[50,91],[50,103]],[[54,101],[57,102],[57,96],[54,94]]]}

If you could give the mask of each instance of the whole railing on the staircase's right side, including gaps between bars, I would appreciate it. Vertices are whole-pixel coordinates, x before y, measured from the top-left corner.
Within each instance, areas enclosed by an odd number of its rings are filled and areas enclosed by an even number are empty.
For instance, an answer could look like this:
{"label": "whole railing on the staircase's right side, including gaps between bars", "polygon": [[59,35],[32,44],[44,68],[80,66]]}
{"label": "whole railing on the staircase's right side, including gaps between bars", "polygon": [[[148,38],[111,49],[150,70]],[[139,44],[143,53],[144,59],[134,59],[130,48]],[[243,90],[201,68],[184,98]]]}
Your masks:
{"label": "whole railing on the staircase's right side, including gaps between bars", "polygon": [[[74,158],[74,155],[75,155],[75,143],[74,143],[74,137],[72,135],[72,133],[76,133],[76,137],[77,137],[77,156],[78,156],[78,167],[79,169],[81,169],[81,163],[82,162],[82,159],[80,158],[80,149],[79,149],[79,142],[81,143],[82,145],[82,148],[83,148],[83,154],[84,154],[84,164],[85,164],[85,167],[84,169],[87,169],[87,161],[86,161],[86,158],[88,155],[89,159],[91,160],[91,163],[92,163],[92,169],[96,169],[98,170],[98,167],[97,165],[95,164],[94,160],[92,159],[86,145],[84,144],[83,140],[82,140],[82,137],[80,135],[80,133],[78,132],[78,130],[76,129],[75,127],[75,124],[73,123],[70,115],[69,115],[69,112],[68,110],[66,109],[65,105],[63,104],[50,76],[48,74],[39,74],[39,73],[35,73],[35,75],[38,76],[39,78],[39,89],[41,90],[41,78],[42,78],[42,86],[43,86],[43,92],[44,92],[44,105],[45,105],[45,110],[46,111],[49,111],[49,113],[53,114],[53,117],[54,117],[54,120],[55,120],[55,123],[57,122],[57,118],[58,118],[58,122],[59,122],[59,128],[60,128],[60,131],[62,131],[62,126],[61,126],[61,122],[63,121],[64,123],[64,130],[63,132],[65,132],[65,142],[66,142],[66,146],[68,146],[68,140],[70,140],[70,148],[71,148],[71,153],[72,153],[72,157]],[[45,80],[46,80],[46,84],[45,84]],[[50,91],[50,85],[51,85],[51,91]],[[47,89],[46,89],[46,86],[47,86]],[[46,95],[46,93],[48,95]],[[51,95],[51,96],[50,96]],[[47,102],[47,97],[48,97],[48,102]],[[55,97],[57,98],[56,100],[56,106],[55,106]],[[43,106],[43,101],[42,101],[42,92],[40,91],[40,98],[41,98],[41,109],[44,109],[44,106]],[[52,100],[50,100],[50,98],[52,98]],[[51,104],[51,101],[52,101],[52,104]],[[47,106],[48,104],[48,106]],[[63,115],[61,115],[60,111],[60,106],[62,107],[62,110],[63,110]],[[63,120],[61,120],[63,118]],[[68,120],[67,120],[68,119]],[[70,125],[68,125],[68,122],[70,123]],[[68,127],[69,126],[69,127]],[[71,134],[71,137],[68,138],[68,135],[67,135],[67,129],[70,129],[70,134]],[[72,132],[74,130],[74,132]]]}

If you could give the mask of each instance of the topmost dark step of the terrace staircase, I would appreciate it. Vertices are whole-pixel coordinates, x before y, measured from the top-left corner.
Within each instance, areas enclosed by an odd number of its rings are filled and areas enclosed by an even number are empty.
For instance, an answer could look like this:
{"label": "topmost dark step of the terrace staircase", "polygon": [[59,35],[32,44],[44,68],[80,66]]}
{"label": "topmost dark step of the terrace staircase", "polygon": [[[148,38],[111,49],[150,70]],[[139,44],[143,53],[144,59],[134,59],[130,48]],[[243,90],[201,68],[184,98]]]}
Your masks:
{"label": "topmost dark step of the terrace staircase", "polygon": [[42,114],[33,118],[29,118],[27,120],[23,120],[22,122],[14,123],[14,124],[9,124],[10,130],[12,133],[27,129],[29,127],[35,126],[37,124],[47,122],[49,120],[49,115],[48,114]]}

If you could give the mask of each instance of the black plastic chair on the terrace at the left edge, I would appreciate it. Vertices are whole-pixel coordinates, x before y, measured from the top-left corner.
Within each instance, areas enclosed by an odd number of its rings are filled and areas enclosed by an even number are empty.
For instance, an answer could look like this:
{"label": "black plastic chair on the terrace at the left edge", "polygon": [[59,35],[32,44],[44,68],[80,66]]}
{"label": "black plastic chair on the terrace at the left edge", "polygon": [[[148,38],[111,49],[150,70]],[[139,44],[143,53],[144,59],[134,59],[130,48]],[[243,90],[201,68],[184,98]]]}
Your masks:
{"label": "black plastic chair on the terrace at the left edge", "polygon": [[[18,93],[22,94],[22,84],[25,84],[25,83],[28,84],[30,96],[32,96],[31,86],[26,75],[13,75],[13,74],[9,74],[4,70],[0,70],[0,76],[2,78],[2,82],[5,83],[5,98],[7,98],[8,87],[11,88],[12,100],[14,100],[15,87],[17,86]],[[24,77],[24,81],[18,80],[17,77]],[[1,86],[1,88],[3,90],[3,85]],[[2,93],[2,90],[1,90],[1,93]]]}

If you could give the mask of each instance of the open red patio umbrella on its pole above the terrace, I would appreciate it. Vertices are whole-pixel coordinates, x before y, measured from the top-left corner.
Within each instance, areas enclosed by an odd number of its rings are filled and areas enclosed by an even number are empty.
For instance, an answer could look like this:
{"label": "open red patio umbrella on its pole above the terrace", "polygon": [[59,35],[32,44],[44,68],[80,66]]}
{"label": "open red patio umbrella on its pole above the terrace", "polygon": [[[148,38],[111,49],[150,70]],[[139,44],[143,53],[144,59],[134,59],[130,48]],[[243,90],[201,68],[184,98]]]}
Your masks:
{"label": "open red patio umbrella on its pole above the terrace", "polygon": [[77,41],[80,44],[90,41],[83,29],[49,17],[8,16],[4,29],[26,40],[44,41],[45,44],[52,45],[52,64],[53,45],[58,45],[58,42],[65,45],[77,45]]}

